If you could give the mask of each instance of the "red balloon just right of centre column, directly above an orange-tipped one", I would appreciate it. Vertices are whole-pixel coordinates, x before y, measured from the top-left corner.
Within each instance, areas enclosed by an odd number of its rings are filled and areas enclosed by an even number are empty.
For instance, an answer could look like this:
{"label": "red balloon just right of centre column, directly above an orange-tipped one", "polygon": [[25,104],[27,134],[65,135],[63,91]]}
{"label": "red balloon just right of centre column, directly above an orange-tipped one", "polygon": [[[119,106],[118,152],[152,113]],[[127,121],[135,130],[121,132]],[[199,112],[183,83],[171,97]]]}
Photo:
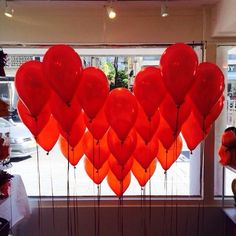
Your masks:
{"label": "red balloon just right of centre column, directly above an orange-tipped one", "polygon": [[158,139],[156,139],[156,137],[146,144],[138,135],[137,145],[133,156],[145,170],[148,169],[151,162],[156,158],[158,145]]}

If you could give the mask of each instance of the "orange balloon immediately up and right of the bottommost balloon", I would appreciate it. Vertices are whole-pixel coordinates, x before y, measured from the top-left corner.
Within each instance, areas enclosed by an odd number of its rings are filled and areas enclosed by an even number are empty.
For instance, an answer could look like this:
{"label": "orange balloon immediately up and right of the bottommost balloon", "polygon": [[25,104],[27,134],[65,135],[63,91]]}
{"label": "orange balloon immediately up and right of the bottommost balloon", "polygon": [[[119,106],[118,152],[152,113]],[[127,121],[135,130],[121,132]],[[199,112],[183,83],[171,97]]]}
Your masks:
{"label": "orange balloon immediately up and right of the bottommost balloon", "polygon": [[157,160],[154,159],[149,167],[145,170],[135,159],[132,166],[132,173],[138,180],[141,187],[145,186],[148,180],[153,176],[156,170]]}

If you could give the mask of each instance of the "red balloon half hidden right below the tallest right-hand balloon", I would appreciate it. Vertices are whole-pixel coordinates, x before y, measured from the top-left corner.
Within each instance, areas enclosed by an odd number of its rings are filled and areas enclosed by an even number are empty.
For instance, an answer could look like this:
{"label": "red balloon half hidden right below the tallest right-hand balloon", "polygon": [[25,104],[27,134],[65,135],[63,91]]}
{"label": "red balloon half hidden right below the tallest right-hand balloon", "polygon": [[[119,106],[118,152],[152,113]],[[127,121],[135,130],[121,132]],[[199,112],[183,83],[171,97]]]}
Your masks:
{"label": "red balloon half hidden right below the tallest right-hand balloon", "polygon": [[167,95],[160,105],[160,113],[176,135],[191,112],[191,103],[186,99],[181,106],[177,107],[173,99]]}

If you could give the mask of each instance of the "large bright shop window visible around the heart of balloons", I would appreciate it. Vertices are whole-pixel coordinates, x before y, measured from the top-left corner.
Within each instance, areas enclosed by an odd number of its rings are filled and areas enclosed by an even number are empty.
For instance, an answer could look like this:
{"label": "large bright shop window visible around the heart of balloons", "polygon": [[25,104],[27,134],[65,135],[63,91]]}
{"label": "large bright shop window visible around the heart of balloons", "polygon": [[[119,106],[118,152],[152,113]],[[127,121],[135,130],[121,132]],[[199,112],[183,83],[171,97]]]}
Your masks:
{"label": "large bright shop window visible around the heart of balloons", "polygon": [[[199,46],[194,48],[201,61],[202,50]],[[133,79],[138,71],[149,65],[158,65],[160,55],[165,48],[78,48],[76,51],[81,56],[84,67],[98,66],[108,76],[111,87],[114,85],[113,73],[114,66],[118,68],[120,78],[119,83],[132,89]],[[46,49],[39,48],[6,48],[4,51],[11,57],[14,55],[14,62],[22,61],[22,58],[36,58],[42,60]],[[19,60],[17,59],[19,55]],[[13,57],[12,57],[13,58]],[[14,64],[14,63],[13,63]],[[15,65],[15,64],[14,64]],[[15,66],[6,68],[6,74],[13,76]],[[12,107],[16,107],[16,93],[13,82],[9,82],[12,96]],[[13,89],[13,90],[12,90]],[[14,99],[13,99],[14,98]],[[15,121],[17,123],[17,121]],[[98,190],[95,184],[88,178],[84,170],[84,161],[80,160],[76,168],[67,169],[67,160],[60,152],[59,145],[47,154],[39,149],[39,158],[34,153],[32,157],[14,158],[9,169],[11,174],[20,174],[26,186],[29,196],[65,196],[68,194],[68,174],[69,174],[69,194],[79,196],[97,195]],[[160,164],[157,164],[156,171],[151,181],[146,185],[146,194],[168,196],[199,196],[201,193],[199,180],[200,177],[200,145],[193,153],[184,144],[182,153],[172,167],[164,174]],[[38,171],[38,167],[40,171]],[[40,182],[40,184],[39,184]],[[37,184],[38,183],[38,184]],[[39,187],[40,186],[40,187]],[[144,190],[143,190],[144,191]],[[106,180],[101,185],[102,195],[114,195],[108,187]],[[131,185],[125,192],[128,196],[140,196],[141,188],[132,176]]]}

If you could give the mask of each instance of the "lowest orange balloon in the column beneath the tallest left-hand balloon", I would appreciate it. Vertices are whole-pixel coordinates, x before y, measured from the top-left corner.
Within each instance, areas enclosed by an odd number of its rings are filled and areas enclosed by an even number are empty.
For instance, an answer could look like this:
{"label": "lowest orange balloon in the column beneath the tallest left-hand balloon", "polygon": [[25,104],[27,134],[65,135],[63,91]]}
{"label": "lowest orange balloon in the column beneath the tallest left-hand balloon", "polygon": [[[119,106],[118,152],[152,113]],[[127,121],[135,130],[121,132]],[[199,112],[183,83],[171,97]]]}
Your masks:
{"label": "lowest orange balloon in the column beneath the tallest left-hand balloon", "polygon": [[59,138],[59,145],[64,157],[69,160],[70,164],[76,166],[84,155],[82,142],[80,141],[74,148],[71,147],[63,136]]}

